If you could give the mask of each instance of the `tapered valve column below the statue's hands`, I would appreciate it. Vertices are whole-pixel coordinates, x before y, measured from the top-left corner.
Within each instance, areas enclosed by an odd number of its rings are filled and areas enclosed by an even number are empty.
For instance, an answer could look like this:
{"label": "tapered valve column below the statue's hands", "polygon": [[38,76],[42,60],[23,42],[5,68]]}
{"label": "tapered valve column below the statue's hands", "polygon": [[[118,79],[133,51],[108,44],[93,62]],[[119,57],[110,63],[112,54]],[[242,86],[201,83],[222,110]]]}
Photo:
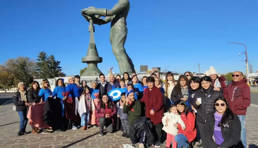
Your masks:
{"label": "tapered valve column below the statue's hands", "polygon": [[82,73],[82,76],[99,76],[102,72],[99,70],[97,64],[102,62],[102,57],[99,57],[95,39],[94,39],[94,25],[93,20],[90,19],[89,25],[90,32],[90,44],[87,51],[87,55],[82,58],[82,63],[87,63],[87,69]]}

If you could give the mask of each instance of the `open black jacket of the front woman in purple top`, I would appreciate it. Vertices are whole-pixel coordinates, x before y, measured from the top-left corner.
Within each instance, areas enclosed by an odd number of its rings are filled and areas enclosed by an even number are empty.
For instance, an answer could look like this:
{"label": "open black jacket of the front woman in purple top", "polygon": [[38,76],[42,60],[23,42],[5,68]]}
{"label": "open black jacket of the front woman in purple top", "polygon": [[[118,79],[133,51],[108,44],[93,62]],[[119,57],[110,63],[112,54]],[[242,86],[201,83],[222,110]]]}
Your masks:
{"label": "open black jacket of the front woman in purple top", "polygon": [[[224,129],[223,127],[220,127],[224,142],[222,142],[220,145],[215,143],[212,138],[215,126],[215,112],[216,110],[207,114],[205,122],[205,135],[207,141],[203,142],[203,148],[244,148],[240,140],[241,122],[236,115],[234,115],[234,120],[231,122],[231,124],[228,125],[229,128]],[[232,119],[232,116],[230,116],[230,119]]]}

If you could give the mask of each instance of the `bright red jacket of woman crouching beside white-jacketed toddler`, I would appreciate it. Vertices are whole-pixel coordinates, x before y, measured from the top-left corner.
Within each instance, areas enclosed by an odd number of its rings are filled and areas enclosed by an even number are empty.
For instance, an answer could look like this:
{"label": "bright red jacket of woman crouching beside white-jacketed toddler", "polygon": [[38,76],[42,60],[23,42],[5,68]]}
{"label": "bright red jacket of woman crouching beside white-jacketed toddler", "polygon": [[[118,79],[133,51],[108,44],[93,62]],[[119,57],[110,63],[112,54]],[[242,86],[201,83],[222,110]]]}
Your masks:
{"label": "bright red jacket of woman crouching beside white-jacketed toddler", "polygon": [[192,142],[197,135],[197,130],[195,128],[195,117],[192,112],[188,112],[187,119],[184,113],[181,113],[181,118],[186,125],[186,129],[182,130],[181,125],[178,124],[178,133],[184,134],[187,137],[188,141]]}

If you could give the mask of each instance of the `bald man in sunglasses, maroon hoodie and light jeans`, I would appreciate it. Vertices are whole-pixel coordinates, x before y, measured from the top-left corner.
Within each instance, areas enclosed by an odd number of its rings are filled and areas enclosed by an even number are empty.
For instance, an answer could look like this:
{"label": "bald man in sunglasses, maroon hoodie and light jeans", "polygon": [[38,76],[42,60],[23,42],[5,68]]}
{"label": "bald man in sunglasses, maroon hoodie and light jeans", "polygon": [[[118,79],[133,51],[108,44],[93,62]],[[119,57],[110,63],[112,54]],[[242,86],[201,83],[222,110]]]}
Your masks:
{"label": "bald man in sunglasses, maroon hoodie and light jeans", "polygon": [[232,83],[228,86],[228,106],[241,121],[241,141],[247,147],[245,131],[245,115],[247,107],[251,104],[250,87],[246,84],[247,80],[243,73],[235,71],[232,74]]}

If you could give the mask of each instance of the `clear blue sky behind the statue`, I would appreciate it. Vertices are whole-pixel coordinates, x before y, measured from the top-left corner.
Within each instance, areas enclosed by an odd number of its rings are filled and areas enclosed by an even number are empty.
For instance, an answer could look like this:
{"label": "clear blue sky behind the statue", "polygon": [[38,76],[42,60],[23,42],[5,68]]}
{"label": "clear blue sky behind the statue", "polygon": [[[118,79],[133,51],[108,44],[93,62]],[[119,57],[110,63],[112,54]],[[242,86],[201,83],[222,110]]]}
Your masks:
{"label": "clear blue sky behind the statue", "polygon": [[[79,74],[86,63],[89,23],[80,12],[83,8],[111,9],[118,0],[45,0],[0,2],[0,63],[9,58],[28,56],[36,59],[40,51],[61,61],[67,75]],[[135,68],[170,66],[167,70],[201,72],[214,66],[219,73],[245,70],[243,45],[253,71],[258,69],[258,1],[178,1],[130,0],[125,49]],[[110,24],[95,25],[95,42],[107,74],[119,67],[109,42]]]}

